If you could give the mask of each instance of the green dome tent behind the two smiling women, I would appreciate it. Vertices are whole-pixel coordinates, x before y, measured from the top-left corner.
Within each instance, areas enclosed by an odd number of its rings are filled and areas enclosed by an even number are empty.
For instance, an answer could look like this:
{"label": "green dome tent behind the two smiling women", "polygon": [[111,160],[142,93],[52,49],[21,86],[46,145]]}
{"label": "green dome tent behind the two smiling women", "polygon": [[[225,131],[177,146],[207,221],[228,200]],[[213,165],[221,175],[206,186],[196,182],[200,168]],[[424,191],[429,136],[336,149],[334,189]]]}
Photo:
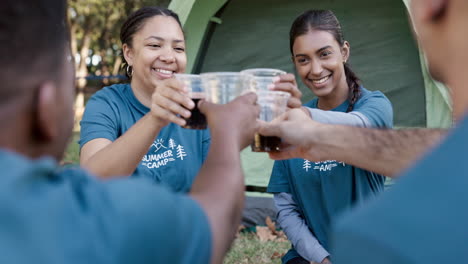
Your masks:
{"label": "green dome tent behind the two smiling women", "polygon": [[[448,93],[427,75],[405,2],[172,0],[169,8],[184,24],[188,71],[193,73],[257,67],[294,72],[288,38],[292,21],[307,9],[331,9],[351,44],[353,70],[367,89],[380,90],[392,101],[395,127],[451,125]],[[300,88],[303,102],[313,98]],[[246,149],[242,160],[246,184],[266,186],[273,164],[267,155]]]}

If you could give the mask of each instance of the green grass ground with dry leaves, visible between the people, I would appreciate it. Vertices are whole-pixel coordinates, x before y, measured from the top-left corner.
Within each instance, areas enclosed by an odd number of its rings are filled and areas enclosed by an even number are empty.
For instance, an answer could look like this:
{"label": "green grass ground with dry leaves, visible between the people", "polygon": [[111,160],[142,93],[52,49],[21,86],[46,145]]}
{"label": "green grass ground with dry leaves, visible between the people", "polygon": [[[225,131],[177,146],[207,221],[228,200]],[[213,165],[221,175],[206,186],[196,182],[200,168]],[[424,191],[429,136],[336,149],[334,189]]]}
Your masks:
{"label": "green grass ground with dry leaves, visible between the people", "polygon": [[[79,133],[74,133],[65,152],[64,163],[79,163]],[[234,240],[224,264],[276,264],[281,263],[291,244],[287,241],[260,241],[254,232],[240,232]]]}

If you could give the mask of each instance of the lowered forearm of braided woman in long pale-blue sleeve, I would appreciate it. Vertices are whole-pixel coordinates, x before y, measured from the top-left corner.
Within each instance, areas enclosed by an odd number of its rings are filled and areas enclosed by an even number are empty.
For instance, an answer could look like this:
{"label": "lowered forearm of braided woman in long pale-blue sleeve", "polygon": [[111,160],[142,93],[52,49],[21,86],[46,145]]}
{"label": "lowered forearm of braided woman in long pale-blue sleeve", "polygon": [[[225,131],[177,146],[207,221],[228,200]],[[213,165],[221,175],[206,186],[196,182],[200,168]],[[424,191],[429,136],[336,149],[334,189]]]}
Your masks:
{"label": "lowered forearm of braided woman in long pale-blue sleeve", "polygon": [[307,227],[292,195],[275,194],[274,201],[278,209],[277,222],[299,255],[308,261],[318,263],[330,255]]}

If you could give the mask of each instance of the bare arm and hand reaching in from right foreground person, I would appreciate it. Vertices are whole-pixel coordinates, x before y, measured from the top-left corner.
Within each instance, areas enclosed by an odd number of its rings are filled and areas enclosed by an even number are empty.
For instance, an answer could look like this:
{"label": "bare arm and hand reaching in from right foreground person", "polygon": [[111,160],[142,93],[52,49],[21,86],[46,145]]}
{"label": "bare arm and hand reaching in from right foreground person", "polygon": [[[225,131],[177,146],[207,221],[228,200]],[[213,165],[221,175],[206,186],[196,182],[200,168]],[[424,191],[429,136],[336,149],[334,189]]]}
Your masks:
{"label": "bare arm and hand reaching in from right foreground person", "polygon": [[327,125],[310,120],[301,110],[291,110],[259,130],[279,136],[292,145],[271,152],[272,159],[301,157],[312,161],[339,160],[389,177],[419,159],[447,133],[443,129],[368,129]]}

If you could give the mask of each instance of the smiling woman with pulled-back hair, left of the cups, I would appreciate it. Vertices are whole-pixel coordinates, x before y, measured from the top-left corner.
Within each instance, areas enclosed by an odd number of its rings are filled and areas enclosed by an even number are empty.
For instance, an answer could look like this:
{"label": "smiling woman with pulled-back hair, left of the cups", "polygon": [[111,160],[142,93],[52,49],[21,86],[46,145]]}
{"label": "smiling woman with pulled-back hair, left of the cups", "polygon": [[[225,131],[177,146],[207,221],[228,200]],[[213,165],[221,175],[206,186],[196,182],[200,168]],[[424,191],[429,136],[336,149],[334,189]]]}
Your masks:
{"label": "smiling woman with pulled-back hair, left of the cups", "polygon": [[[166,8],[141,8],[122,25],[120,40],[131,82],[105,87],[88,101],[81,165],[103,178],[142,176],[187,192],[206,158],[210,135],[181,127],[194,105],[173,78],[187,64],[179,18]],[[288,92],[289,105],[300,107],[299,90]]]}

